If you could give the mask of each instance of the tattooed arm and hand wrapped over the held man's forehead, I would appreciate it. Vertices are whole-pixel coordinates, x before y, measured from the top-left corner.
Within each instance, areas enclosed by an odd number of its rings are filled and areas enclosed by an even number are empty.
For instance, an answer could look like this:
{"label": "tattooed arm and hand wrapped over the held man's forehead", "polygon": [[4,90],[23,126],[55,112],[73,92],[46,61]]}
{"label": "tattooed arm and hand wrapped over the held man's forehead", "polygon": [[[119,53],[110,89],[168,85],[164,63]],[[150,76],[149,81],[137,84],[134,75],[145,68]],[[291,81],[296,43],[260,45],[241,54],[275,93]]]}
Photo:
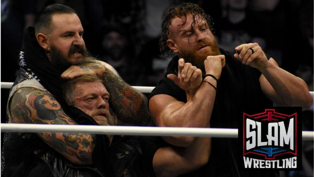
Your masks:
{"label": "tattooed arm and hand wrapped over the held man's forehead", "polygon": [[132,88],[119,76],[109,64],[93,60],[81,66],[71,66],[61,75],[63,79],[73,79],[84,75],[96,75],[104,82],[110,93],[110,105],[124,123],[137,126],[148,125],[150,116],[147,98],[138,90]]}

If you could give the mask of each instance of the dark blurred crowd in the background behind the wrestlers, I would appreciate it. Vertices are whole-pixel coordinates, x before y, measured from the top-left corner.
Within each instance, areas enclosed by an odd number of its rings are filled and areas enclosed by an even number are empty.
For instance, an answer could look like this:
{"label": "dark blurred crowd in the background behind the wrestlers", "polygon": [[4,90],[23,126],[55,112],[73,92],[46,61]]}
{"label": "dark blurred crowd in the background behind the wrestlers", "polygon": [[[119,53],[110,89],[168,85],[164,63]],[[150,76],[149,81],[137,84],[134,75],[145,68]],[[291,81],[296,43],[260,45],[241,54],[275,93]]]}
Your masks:
{"label": "dark blurred crowd in the background behind the wrestlers", "polygon": [[[162,18],[183,2],[198,3],[213,17],[221,48],[232,52],[237,45],[257,42],[313,91],[313,0],[1,0],[1,82],[15,80],[24,30],[34,26],[43,7],[60,3],[78,13],[93,56],[111,64],[130,85],[156,86],[173,56],[160,56]],[[1,122],[8,92],[1,89]],[[303,128],[313,131],[313,111],[304,112]],[[307,143],[303,151],[311,157],[313,176],[313,142]]]}

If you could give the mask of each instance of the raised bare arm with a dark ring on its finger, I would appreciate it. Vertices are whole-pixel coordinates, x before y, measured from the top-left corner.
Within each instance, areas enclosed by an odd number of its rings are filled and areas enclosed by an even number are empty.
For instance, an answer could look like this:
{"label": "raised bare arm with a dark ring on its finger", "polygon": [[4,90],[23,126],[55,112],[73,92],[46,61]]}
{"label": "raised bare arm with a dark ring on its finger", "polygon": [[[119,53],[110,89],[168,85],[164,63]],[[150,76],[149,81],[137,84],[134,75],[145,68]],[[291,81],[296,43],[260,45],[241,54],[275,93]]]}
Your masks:
{"label": "raised bare arm with a dark ring on its finger", "polygon": [[311,106],[313,99],[306,83],[279,68],[273,58],[268,60],[257,43],[241,44],[236,51],[240,51],[239,55],[234,54],[236,59],[262,72],[259,81],[263,93],[270,100],[283,106],[302,106],[303,110]]}

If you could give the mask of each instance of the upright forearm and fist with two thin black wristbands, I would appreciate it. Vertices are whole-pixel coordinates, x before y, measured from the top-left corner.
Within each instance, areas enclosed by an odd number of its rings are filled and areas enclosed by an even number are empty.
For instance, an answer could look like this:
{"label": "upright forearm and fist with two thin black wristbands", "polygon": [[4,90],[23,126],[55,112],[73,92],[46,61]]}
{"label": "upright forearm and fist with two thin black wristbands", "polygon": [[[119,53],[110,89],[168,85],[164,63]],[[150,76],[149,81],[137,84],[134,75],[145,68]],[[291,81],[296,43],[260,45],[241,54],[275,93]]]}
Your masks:
{"label": "upright forearm and fist with two thin black wristbands", "polygon": [[221,70],[225,66],[225,56],[207,56],[204,66],[206,74],[210,76],[205,77],[201,85],[194,89],[194,92],[186,92],[186,104],[172,109],[174,111],[170,112],[169,120],[167,120],[171,125],[178,124],[179,127],[209,126],[216,97],[217,82]]}

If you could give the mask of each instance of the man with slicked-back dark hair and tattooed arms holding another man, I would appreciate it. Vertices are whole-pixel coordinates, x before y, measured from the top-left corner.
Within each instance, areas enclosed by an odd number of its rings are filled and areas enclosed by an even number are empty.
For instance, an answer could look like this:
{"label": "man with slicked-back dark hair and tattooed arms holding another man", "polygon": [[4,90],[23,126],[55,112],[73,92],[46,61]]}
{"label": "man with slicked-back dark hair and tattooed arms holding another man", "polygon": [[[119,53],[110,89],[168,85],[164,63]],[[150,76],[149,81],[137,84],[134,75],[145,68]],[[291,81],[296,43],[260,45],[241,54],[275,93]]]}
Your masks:
{"label": "man with slicked-back dark hair and tattooed arms holding another man", "polygon": [[[24,34],[20,71],[9,94],[8,123],[97,125],[84,112],[68,107],[62,96],[65,80],[84,75],[103,81],[112,98],[111,115],[130,125],[149,123],[145,96],[125,83],[112,66],[89,56],[83,33],[78,15],[68,6],[51,4],[38,14],[35,28]],[[95,134],[7,132],[1,174],[110,176],[104,160],[108,147],[109,139]]]}

